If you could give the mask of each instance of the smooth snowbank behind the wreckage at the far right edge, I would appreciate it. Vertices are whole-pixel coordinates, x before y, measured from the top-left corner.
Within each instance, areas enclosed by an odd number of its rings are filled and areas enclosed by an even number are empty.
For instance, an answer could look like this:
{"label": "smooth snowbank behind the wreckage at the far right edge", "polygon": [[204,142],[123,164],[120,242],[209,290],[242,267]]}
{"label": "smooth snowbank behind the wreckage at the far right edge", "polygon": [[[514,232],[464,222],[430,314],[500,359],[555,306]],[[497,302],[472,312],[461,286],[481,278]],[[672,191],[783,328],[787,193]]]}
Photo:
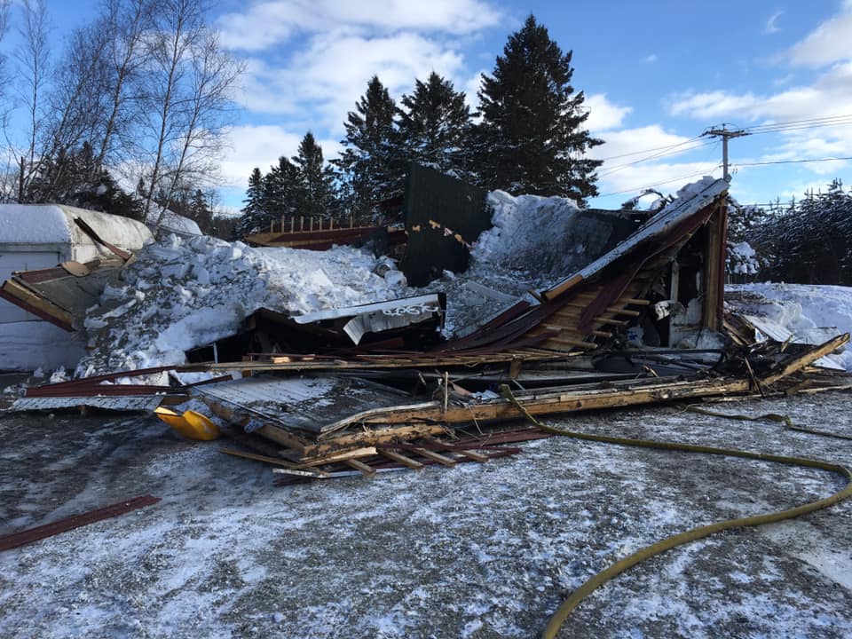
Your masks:
{"label": "smooth snowbank behind the wreckage at the far right edge", "polygon": [[[725,301],[734,310],[771,319],[793,335],[805,335],[817,327],[852,333],[852,288],[773,283],[726,288]],[[848,346],[833,357],[852,371],[852,349]]]}

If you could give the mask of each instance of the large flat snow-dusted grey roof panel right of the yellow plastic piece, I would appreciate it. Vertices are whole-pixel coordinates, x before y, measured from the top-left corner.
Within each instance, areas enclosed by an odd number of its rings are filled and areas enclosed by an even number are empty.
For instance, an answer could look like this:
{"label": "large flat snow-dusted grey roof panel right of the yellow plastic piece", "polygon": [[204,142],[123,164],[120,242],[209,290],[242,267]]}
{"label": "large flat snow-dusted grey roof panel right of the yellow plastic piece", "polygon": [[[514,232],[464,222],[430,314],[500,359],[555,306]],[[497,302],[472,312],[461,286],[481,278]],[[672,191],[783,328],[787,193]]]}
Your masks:
{"label": "large flat snow-dusted grey roof panel right of the yellow plastic piece", "polygon": [[[287,430],[315,435],[338,428],[337,422],[352,414],[398,406],[405,393],[381,384],[351,377],[258,375],[230,382],[199,386],[201,395],[256,418],[258,424],[274,423]],[[247,430],[251,430],[250,425]]]}

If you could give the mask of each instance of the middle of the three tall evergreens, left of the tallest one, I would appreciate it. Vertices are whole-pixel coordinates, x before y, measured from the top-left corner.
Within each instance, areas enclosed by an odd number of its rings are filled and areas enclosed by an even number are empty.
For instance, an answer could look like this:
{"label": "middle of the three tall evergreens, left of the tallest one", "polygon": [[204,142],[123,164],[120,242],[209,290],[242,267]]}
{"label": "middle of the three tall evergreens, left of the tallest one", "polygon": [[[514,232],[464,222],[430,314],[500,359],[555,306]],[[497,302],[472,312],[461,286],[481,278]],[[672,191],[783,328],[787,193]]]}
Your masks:
{"label": "middle of the three tall evergreens, left of the tallest one", "polygon": [[433,71],[399,101],[405,109],[397,109],[398,144],[406,160],[463,177],[471,126],[464,93]]}

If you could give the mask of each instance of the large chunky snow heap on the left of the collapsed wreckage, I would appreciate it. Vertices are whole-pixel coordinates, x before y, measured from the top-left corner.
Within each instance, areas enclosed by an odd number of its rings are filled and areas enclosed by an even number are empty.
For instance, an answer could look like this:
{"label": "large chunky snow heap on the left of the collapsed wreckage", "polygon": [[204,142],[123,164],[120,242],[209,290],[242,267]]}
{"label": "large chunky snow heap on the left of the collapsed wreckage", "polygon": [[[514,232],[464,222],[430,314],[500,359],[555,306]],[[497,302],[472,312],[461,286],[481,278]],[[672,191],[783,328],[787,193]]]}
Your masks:
{"label": "large chunky snow heap on the left of the collapsed wreckage", "polygon": [[409,295],[399,275],[387,258],[355,248],[320,253],[170,235],[140,251],[123,285],[107,287],[89,313],[91,353],[76,375],[183,364],[184,351],[234,335],[261,307],[298,315]]}

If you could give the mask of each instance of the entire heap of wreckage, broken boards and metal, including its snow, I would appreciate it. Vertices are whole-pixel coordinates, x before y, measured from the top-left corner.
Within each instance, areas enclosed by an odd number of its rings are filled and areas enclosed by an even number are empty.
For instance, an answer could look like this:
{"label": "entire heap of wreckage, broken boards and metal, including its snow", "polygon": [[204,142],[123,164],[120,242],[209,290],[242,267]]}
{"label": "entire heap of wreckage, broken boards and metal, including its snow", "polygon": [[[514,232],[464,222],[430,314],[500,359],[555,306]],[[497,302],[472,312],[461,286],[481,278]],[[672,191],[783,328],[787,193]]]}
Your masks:
{"label": "entire heap of wreckage, broken boards and metal, including its snow", "polygon": [[727,186],[653,214],[491,193],[469,270],[422,289],[356,248],[170,236],[86,313],[75,379],[16,407],[156,409],[288,482],[485,462],[535,415],[849,385],[810,373],[848,334],[723,308]]}

